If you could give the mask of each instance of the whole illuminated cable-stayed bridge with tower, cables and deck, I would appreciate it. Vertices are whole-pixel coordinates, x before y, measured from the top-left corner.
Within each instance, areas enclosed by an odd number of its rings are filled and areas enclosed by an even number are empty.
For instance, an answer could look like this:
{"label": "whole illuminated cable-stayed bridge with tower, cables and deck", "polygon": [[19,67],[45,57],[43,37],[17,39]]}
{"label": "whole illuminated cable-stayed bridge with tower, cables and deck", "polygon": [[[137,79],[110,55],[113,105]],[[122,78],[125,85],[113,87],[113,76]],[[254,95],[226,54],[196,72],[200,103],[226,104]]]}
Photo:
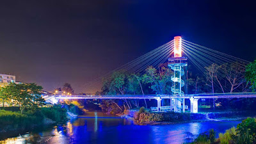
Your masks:
{"label": "whole illuminated cable-stayed bridge with tower, cables and deck", "polygon": [[[202,73],[212,72],[209,74],[210,78],[216,78],[217,81],[211,81],[212,93],[200,93],[200,94],[188,94],[184,93],[184,86],[186,86],[186,67],[188,66],[188,60]],[[116,68],[115,70],[109,72],[108,74],[102,76],[110,76],[116,70],[126,70],[130,73],[142,73],[145,68],[149,65],[153,67],[159,67],[161,63],[168,61],[168,67],[173,70],[173,76],[171,80],[173,86],[171,88],[172,95],[44,95],[44,99],[47,102],[56,103],[60,99],[156,99],[157,107],[152,108],[154,111],[163,111],[168,109],[168,111],[175,112],[185,112],[188,106],[185,104],[185,99],[190,100],[190,111],[191,113],[198,113],[198,100],[199,99],[229,99],[229,98],[255,98],[256,93],[251,92],[238,92],[234,93],[234,90],[243,86],[244,77],[239,76],[241,69],[236,69],[237,67],[245,67],[249,61],[230,56],[228,54],[209,49],[202,45],[183,40],[181,36],[175,36],[170,42],[161,45],[157,49],[144,54],[140,58],[133,60],[122,67]],[[239,61],[239,62],[237,62]],[[236,62],[236,63],[234,63]],[[232,76],[231,71],[221,70],[218,74],[229,74],[227,75],[227,80],[231,84],[230,93],[225,93],[227,86],[221,85],[220,81],[223,77],[217,77],[217,73],[214,73],[214,68],[209,71],[205,70],[212,64],[223,65],[223,63],[232,63],[233,68],[236,69],[236,76]],[[211,67],[210,67],[211,68]],[[239,71],[240,70],[240,71]],[[84,88],[97,88],[101,85],[101,79],[95,79],[90,84],[85,84]],[[188,76],[187,76],[188,78]],[[223,93],[214,93],[214,84],[219,86]],[[83,88],[81,88],[83,90]],[[244,89],[244,88],[243,88]],[[246,89],[246,88],[245,88]],[[170,106],[161,106],[161,100],[170,99]]]}

